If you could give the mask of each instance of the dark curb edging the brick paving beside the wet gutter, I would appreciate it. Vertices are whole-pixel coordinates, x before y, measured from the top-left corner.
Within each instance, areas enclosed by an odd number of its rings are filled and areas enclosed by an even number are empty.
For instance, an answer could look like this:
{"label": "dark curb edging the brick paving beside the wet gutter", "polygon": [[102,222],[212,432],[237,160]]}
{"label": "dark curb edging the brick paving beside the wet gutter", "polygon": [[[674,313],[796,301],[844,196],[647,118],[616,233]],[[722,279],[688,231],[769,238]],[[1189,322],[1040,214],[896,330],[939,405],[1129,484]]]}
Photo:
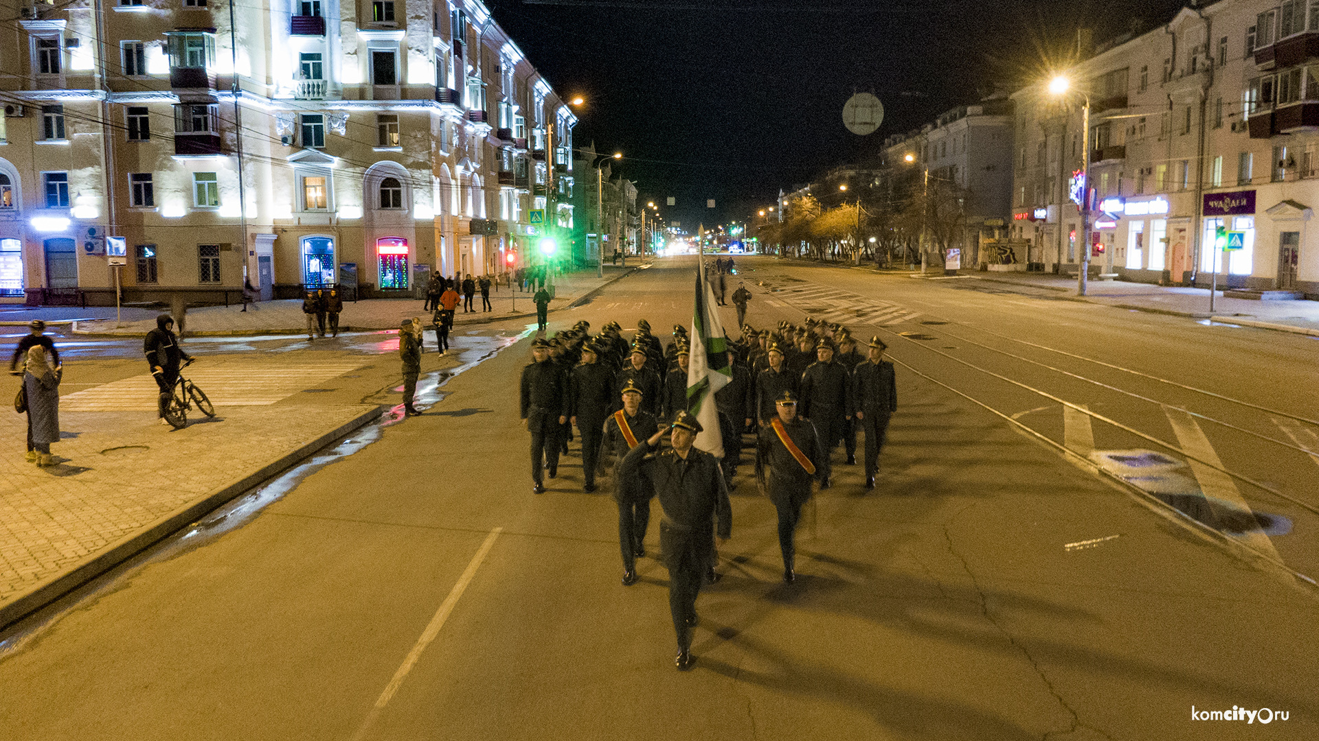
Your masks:
{"label": "dark curb edging the brick paving beside the wet gutter", "polygon": [[36,584],[26,592],[12,599],[9,603],[0,605],[0,629],[8,628],[24,617],[28,617],[38,609],[82,587],[87,581],[91,581],[129,558],[158,543],[166,537],[173,535],[193,522],[197,522],[200,517],[237,498],[249,489],[253,489],[286,469],[293,468],[297,463],[301,463],[318,450],[369,423],[372,419],[380,418],[380,414],[385,409],[385,406],[377,405],[369,411],[363,411],[339,427],[322,434],[310,443],[305,443],[280,459],[268,463],[259,471],[249,473],[227,487],[216,489],[199,500],[181,506],[170,514],[166,514],[165,517],[148,525],[145,529],[120,538],[106,550],[88,555],[67,571]]}

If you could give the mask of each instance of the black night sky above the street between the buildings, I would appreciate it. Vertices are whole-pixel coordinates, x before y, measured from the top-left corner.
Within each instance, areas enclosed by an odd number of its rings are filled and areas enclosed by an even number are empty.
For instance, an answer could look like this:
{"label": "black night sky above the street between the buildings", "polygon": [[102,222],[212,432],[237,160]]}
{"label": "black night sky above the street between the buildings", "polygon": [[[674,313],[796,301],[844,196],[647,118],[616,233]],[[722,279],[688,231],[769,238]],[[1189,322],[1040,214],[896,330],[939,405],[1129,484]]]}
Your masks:
{"label": "black night sky above the street between the buildings", "polygon": [[[1187,0],[1188,3],[1190,0]],[[565,98],[575,142],[621,150],[640,199],[683,228],[751,215],[780,187],[873,157],[884,137],[1016,90],[1095,40],[1161,25],[1182,0],[488,0]],[[880,131],[843,104],[873,92]],[[718,202],[706,208],[706,199]]]}

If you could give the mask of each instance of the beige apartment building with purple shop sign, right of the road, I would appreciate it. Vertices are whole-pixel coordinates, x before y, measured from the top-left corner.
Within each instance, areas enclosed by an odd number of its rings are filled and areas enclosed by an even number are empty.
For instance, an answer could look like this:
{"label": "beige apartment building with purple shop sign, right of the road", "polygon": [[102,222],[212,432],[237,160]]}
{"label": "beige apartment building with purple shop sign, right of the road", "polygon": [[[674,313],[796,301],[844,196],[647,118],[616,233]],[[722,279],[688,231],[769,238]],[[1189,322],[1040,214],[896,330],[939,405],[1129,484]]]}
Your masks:
{"label": "beige apartment building with purple shop sign, right of the road", "polygon": [[[1054,272],[1088,248],[1121,280],[1319,294],[1315,62],[1319,1],[1220,0],[1097,50],[1066,96],[1017,91],[1016,233]],[[1240,244],[1225,261],[1219,227]]]}

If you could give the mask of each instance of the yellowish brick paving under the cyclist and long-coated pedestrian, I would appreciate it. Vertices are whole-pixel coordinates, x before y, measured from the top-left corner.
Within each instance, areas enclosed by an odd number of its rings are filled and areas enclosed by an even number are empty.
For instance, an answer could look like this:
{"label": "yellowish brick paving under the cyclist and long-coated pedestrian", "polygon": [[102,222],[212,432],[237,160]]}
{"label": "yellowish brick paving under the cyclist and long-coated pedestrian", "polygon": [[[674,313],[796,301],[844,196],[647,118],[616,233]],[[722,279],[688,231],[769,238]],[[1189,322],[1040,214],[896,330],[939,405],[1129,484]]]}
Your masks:
{"label": "yellowish brick paving under the cyclist and long-coated pedestrian", "polygon": [[62,411],[63,463],[24,459],[25,417],[0,415],[0,605],[179,508],[375,409],[218,407],[173,430],[153,414]]}

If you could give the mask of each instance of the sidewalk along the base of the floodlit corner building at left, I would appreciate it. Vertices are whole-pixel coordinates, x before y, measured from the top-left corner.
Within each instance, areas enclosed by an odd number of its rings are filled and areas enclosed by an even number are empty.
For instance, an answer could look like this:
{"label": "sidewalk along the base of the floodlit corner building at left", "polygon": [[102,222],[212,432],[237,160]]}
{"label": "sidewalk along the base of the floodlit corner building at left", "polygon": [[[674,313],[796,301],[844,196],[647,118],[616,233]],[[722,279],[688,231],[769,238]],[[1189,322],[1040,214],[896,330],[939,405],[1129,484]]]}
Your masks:
{"label": "sidewalk along the base of the floodlit corner building at left", "polygon": [[[567,309],[582,301],[592,291],[611,283],[628,273],[636,270],[637,265],[613,268],[605,265],[604,277],[598,278],[595,270],[567,273],[554,280],[554,301],[550,302],[550,311]],[[491,311],[480,311],[481,297],[477,293],[472,299],[474,312],[464,312],[459,305],[455,326],[480,324],[499,322],[504,319],[534,318],[536,305],[532,303],[532,293],[509,293],[506,286],[500,286],[499,291],[491,291]],[[348,302],[339,315],[339,328],[351,330],[397,330],[400,322],[413,316],[421,316],[423,322],[430,322],[430,312],[422,311],[422,299],[406,298],[377,298],[369,301]],[[80,314],[79,314],[80,311]],[[161,310],[132,309],[124,310],[123,322],[115,327],[115,310],[109,309],[33,309],[29,311],[0,311],[0,322],[26,322],[37,318],[57,316],[59,319],[96,316],[94,320],[80,320],[74,326],[75,334],[86,335],[144,335],[156,328],[156,316]],[[240,306],[204,306],[187,311],[189,336],[222,336],[222,335],[297,335],[306,331],[306,320],[302,314],[302,301],[266,301],[255,305],[247,311]]]}

